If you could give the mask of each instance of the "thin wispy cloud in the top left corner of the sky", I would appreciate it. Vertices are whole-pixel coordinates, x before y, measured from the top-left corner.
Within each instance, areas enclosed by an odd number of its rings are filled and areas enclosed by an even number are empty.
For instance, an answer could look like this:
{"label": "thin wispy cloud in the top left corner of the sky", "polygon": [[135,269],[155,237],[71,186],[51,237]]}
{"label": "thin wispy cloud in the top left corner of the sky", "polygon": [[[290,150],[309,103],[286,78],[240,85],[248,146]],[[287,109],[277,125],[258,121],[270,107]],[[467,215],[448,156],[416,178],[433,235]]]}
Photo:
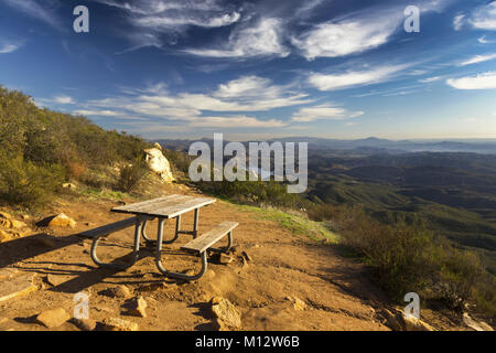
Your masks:
{"label": "thin wispy cloud in the top left corner of the sky", "polygon": [[11,8],[25,13],[29,17],[43,21],[58,31],[63,31],[61,21],[55,14],[58,0],[40,2],[36,0],[2,0]]}

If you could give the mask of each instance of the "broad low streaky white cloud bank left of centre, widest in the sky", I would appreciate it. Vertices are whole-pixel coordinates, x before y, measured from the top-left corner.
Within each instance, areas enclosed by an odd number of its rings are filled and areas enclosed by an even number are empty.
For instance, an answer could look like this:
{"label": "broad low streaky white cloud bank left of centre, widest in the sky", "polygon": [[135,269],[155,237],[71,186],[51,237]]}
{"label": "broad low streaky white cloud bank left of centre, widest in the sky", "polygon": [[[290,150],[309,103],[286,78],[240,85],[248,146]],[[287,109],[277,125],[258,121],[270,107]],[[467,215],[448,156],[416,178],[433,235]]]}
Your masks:
{"label": "broad low streaky white cloud bank left of centre, widest in the sky", "polygon": [[[247,117],[244,111],[268,111],[312,103],[308,95],[293,92],[290,86],[274,85],[259,76],[244,76],[220,84],[208,93],[170,94],[164,85],[147,89],[125,88],[121,97],[89,100],[77,113],[82,115],[141,116],[183,121],[195,127],[283,127],[284,122]],[[212,113],[234,113],[234,116],[215,116]]]}

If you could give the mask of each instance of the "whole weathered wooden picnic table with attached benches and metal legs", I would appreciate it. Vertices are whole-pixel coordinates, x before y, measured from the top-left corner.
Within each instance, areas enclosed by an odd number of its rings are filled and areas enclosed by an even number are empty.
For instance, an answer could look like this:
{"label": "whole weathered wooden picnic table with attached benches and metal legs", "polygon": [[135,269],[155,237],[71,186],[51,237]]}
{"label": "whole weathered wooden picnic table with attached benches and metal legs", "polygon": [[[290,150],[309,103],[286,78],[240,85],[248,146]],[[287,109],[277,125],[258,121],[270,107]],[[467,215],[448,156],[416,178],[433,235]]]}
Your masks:
{"label": "whole weathered wooden picnic table with attached benches and metal legs", "polygon": [[[203,234],[198,237],[198,218],[200,208],[211,205],[215,202],[215,199],[209,197],[196,197],[188,195],[168,195],[163,197],[158,197],[149,201],[143,201],[130,205],[123,205],[119,207],[111,208],[111,212],[125,213],[133,215],[130,218],[119,221],[112,224],[108,224],[95,229],[90,229],[82,233],[83,236],[88,236],[93,238],[90,256],[95,264],[100,267],[112,267],[112,268],[128,268],[136,264],[139,258],[140,252],[140,240],[141,237],[145,239],[149,244],[155,243],[155,265],[160,272],[166,277],[179,278],[185,280],[195,280],[202,277],[207,269],[207,252],[223,252],[226,253],[233,245],[233,229],[238,225],[236,222],[223,222],[215,226],[209,232]],[[183,231],[181,228],[181,216],[187,212],[194,211],[194,223],[192,231]],[[158,233],[157,239],[151,239],[147,235],[147,224],[153,220],[158,220]],[[164,223],[168,220],[175,218],[175,232],[174,236],[170,240],[163,239],[163,228]],[[98,247],[98,242],[115,232],[121,231],[123,228],[134,226],[134,245],[132,259],[130,264],[108,264],[103,263],[97,254],[96,249]],[[162,265],[162,244],[174,243],[181,234],[192,235],[193,240],[188,242],[181,249],[197,254],[202,258],[202,269],[196,275],[186,275],[180,272],[173,272],[166,270]],[[224,236],[228,236],[228,244],[224,248],[214,248],[213,245],[222,239]]]}

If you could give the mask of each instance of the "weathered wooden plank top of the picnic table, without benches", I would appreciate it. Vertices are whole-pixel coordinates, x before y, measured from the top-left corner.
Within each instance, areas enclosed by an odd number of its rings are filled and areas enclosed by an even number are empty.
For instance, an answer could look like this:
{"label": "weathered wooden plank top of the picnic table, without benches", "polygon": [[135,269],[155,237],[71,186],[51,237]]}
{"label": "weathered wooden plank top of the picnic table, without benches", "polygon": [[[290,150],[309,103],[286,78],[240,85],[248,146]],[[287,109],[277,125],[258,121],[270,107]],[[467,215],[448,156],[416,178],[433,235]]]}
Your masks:
{"label": "weathered wooden plank top of the picnic table, without benches", "polygon": [[130,205],[114,207],[117,213],[130,213],[153,217],[174,218],[183,213],[213,204],[216,200],[208,197],[195,197],[187,195],[169,195],[133,203]]}

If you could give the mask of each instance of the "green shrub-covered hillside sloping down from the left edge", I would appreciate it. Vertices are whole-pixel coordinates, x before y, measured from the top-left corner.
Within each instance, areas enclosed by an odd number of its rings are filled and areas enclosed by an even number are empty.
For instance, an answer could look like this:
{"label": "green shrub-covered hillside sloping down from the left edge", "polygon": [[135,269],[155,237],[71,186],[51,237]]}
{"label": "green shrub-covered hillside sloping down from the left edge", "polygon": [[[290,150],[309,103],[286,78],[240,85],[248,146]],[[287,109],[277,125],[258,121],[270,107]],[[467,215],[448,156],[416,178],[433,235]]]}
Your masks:
{"label": "green shrub-covered hillside sloping down from the left edge", "polygon": [[[85,117],[40,109],[31,97],[0,86],[0,202],[40,205],[66,176],[93,181],[93,170],[130,163],[150,145],[106,131]],[[134,188],[136,171],[125,171]],[[96,183],[94,183],[96,184]]]}

